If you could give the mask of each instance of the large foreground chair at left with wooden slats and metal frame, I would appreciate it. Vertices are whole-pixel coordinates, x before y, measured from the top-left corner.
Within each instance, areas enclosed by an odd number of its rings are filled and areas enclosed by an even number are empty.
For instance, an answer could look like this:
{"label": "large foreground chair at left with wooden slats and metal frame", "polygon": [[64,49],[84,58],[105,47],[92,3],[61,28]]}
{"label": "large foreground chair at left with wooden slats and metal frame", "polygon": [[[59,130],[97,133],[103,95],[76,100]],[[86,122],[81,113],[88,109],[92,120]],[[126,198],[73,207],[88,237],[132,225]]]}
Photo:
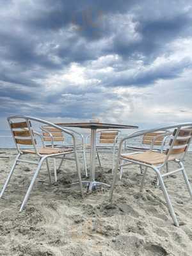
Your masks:
{"label": "large foreground chair at left with wooden slats and metal frame", "polygon": [[[36,132],[35,129],[32,126],[32,122],[34,125],[49,125],[52,128],[56,128],[60,130],[62,133],[68,134],[68,136],[71,136],[72,142],[73,142],[73,148],[47,148],[44,145],[44,140],[40,133]],[[13,163],[12,169],[10,170],[10,173],[8,175],[8,178],[6,179],[6,182],[4,183],[3,189],[0,194],[0,198],[3,196],[5,189],[8,186],[8,183],[10,182],[10,179],[12,177],[13,171],[15,169],[16,164],[18,163],[29,163],[29,164],[36,164],[37,168],[33,175],[33,179],[31,180],[31,184],[29,185],[28,191],[26,195],[24,196],[24,200],[22,202],[22,205],[20,207],[20,212],[24,209],[29,195],[31,193],[31,190],[33,189],[33,186],[35,184],[35,180],[38,177],[38,173],[40,172],[40,168],[44,161],[47,164],[47,171],[49,173],[49,180],[51,183],[51,172],[49,170],[49,163],[48,163],[48,157],[58,157],[58,156],[66,156],[68,154],[74,155],[74,160],[76,161],[76,169],[77,174],[79,177],[79,186],[81,190],[81,195],[83,196],[83,186],[81,182],[81,173],[79,169],[79,163],[77,159],[77,149],[76,149],[76,138],[74,134],[70,131],[67,131],[58,125],[51,124],[50,122],[47,122],[45,120],[41,120],[38,118],[33,118],[30,116],[10,116],[8,118],[8,123],[10,124],[10,129],[12,131],[13,140],[15,141],[15,145],[17,147],[18,155],[15,159],[15,162]],[[36,127],[36,126],[35,126]],[[42,144],[42,147],[38,146],[38,137],[40,138],[40,143]],[[26,148],[27,147],[27,148]],[[38,160],[31,161],[27,159],[26,157],[24,159],[21,159],[22,156],[26,156],[28,154],[33,154],[38,158]]]}

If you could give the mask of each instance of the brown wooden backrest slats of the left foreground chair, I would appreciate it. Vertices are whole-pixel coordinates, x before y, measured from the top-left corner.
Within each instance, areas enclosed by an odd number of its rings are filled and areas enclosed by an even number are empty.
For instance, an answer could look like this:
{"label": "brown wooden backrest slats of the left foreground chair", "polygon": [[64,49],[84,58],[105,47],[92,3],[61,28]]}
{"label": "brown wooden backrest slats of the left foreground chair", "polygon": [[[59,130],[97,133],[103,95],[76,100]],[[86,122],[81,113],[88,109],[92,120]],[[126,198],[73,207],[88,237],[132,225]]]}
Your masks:
{"label": "brown wooden backrest slats of the left foreground chair", "polygon": [[[31,123],[29,122],[29,125]],[[13,132],[13,136],[15,137],[15,142],[20,145],[33,145],[33,140],[31,138],[31,134],[29,132],[29,127],[27,122],[17,122],[11,123],[10,127]],[[33,132],[31,130],[31,132]],[[36,143],[36,141],[34,140]]]}

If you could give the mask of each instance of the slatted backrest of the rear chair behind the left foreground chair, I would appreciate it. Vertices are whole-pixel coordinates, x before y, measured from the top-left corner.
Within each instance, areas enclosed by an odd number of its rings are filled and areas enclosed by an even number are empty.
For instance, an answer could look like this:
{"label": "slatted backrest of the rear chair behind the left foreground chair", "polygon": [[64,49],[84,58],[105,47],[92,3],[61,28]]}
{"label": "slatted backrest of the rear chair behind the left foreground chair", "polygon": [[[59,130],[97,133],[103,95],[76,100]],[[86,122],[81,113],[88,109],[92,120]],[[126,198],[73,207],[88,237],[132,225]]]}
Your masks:
{"label": "slatted backrest of the rear chair behind the left foreground chair", "polygon": [[54,145],[54,142],[62,142],[65,140],[63,136],[63,132],[60,129],[56,129],[54,127],[50,127],[48,125],[44,125],[41,127],[42,135],[45,142],[50,142]]}

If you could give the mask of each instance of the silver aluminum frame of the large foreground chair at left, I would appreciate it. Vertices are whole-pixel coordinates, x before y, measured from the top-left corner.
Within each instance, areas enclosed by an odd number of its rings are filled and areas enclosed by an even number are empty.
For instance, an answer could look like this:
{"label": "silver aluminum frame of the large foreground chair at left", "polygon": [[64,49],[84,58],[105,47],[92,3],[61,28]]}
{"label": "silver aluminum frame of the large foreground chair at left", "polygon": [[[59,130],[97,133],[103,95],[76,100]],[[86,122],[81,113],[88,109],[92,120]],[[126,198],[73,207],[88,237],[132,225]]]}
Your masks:
{"label": "silver aluminum frame of the large foreground chair at left", "polygon": [[[31,146],[33,147],[33,153],[32,154],[39,157],[38,161],[30,161],[28,159],[20,159],[20,156],[26,155],[26,154],[24,154],[25,149],[20,148],[19,143],[17,143],[17,139],[15,139],[15,135],[14,135],[14,132],[12,130],[12,124],[17,124],[17,123],[12,122],[12,120],[18,120],[18,119],[19,120],[24,120],[24,122],[26,122],[26,124],[27,124],[27,129],[29,131],[28,138],[30,138],[30,140],[32,141],[32,143],[31,143]],[[47,122],[45,120],[42,120],[42,119],[39,119],[39,118],[34,118],[34,117],[31,117],[31,116],[22,116],[22,115],[10,116],[10,117],[7,118],[7,120],[8,120],[8,123],[10,125],[10,129],[12,131],[13,140],[15,141],[15,145],[17,147],[18,154],[17,154],[17,157],[15,158],[15,161],[13,163],[13,166],[12,166],[11,170],[10,170],[10,173],[8,174],[6,182],[4,183],[3,189],[1,190],[0,198],[2,198],[2,196],[4,195],[4,191],[6,190],[8,184],[10,182],[10,179],[12,177],[13,171],[14,171],[15,166],[16,166],[17,163],[36,164],[37,168],[35,170],[35,173],[33,175],[32,180],[31,180],[31,184],[29,185],[28,191],[27,191],[26,195],[24,196],[24,200],[22,201],[22,205],[20,206],[19,211],[21,212],[24,209],[24,207],[25,207],[25,205],[28,201],[31,190],[33,189],[33,186],[35,184],[35,180],[38,177],[38,173],[40,172],[40,168],[41,168],[42,164],[44,163],[44,161],[46,161],[46,164],[47,164],[47,171],[49,173],[49,181],[50,181],[50,183],[52,183],[52,181],[51,181],[51,172],[49,170],[49,163],[48,163],[47,159],[49,157],[54,158],[54,157],[59,157],[59,156],[62,156],[62,155],[67,155],[67,154],[74,154],[74,160],[76,161],[77,175],[78,175],[78,178],[79,178],[79,187],[80,187],[80,190],[81,190],[81,195],[83,197],[83,186],[82,186],[82,182],[81,182],[81,172],[80,172],[80,168],[79,168],[79,162],[78,162],[78,159],[77,159],[76,137],[74,136],[73,132],[70,132],[70,131],[68,131],[64,128],[61,128],[58,125],[52,124],[51,122]],[[54,127],[56,129],[60,129],[61,132],[67,133],[72,138],[73,150],[69,151],[69,152],[65,152],[65,151],[64,152],[59,152],[59,153],[56,153],[56,154],[40,154],[38,152],[38,148],[36,147],[35,135],[40,136],[43,148],[45,148],[45,145],[44,145],[44,142],[42,140],[41,134],[39,134],[38,132],[33,131],[33,128],[31,127],[31,121],[38,122],[39,124],[49,125],[49,126]],[[18,124],[20,124],[20,121],[19,121]],[[19,129],[20,129],[20,127],[19,127]],[[31,153],[29,153],[29,154],[31,154]]]}

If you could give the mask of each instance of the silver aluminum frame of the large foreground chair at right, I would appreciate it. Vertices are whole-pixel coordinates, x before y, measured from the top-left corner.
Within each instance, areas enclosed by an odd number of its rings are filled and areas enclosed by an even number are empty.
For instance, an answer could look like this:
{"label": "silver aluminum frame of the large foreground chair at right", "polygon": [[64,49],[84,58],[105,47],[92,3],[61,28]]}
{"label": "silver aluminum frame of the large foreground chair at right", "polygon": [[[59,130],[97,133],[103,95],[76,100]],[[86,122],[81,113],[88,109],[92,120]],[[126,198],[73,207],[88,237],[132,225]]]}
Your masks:
{"label": "silver aluminum frame of the large foreground chair at right", "polygon": [[[123,147],[123,144],[124,144],[124,141],[125,140],[129,140],[131,138],[136,138],[137,136],[142,136],[143,134],[147,133],[147,132],[156,132],[156,131],[163,131],[163,130],[168,130],[168,129],[175,129],[176,130],[176,133],[174,134],[173,138],[172,138],[172,143],[170,144],[170,148],[168,149],[168,153],[166,154],[166,157],[164,159],[164,162],[162,164],[159,164],[159,165],[153,165],[153,164],[147,164],[147,163],[143,163],[141,161],[134,161],[132,159],[127,159],[127,162],[129,163],[133,163],[133,164],[140,164],[142,166],[145,166],[145,172],[144,172],[144,175],[143,175],[143,179],[141,180],[141,186],[140,186],[140,195],[143,191],[143,185],[144,185],[144,181],[145,181],[145,177],[146,177],[146,173],[147,173],[147,169],[150,168],[152,169],[156,175],[157,175],[157,179],[159,180],[159,184],[161,186],[161,189],[163,191],[163,195],[164,195],[164,198],[166,200],[166,203],[167,203],[167,206],[168,206],[168,211],[170,212],[170,216],[172,217],[173,219],[173,223],[175,226],[179,227],[179,221],[177,220],[177,216],[175,214],[175,211],[173,209],[173,205],[172,205],[172,202],[170,200],[170,196],[168,195],[168,191],[166,189],[166,186],[164,185],[164,180],[163,178],[164,177],[168,177],[168,175],[171,175],[173,173],[177,173],[177,172],[182,172],[182,175],[184,176],[184,180],[186,182],[186,186],[188,188],[188,191],[189,191],[189,195],[192,199],[192,189],[191,189],[191,185],[189,184],[189,179],[188,179],[188,175],[186,173],[186,170],[184,168],[184,164],[182,163],[182,160],[184,159],[184,156],[186,155],[186,152],[188,152],[188,148],[189,148],[189,144],[191,142],[191,135],[190,135],[190,138],[189,138],[189,142],[188,142],[188,145],[186,145],[186,148],[185,148],[185,151],[183,152],[183,154],[181,154],[182,156],[178,157],[178,156],[175,156],[175,160],[172,160],[172,161],[175,161],[175,163],[178,163],[179,164],[179,168],[177,170],[173,170],[172,172],[167,172],[167,173],[164,173],[164,174],[161,174],[161,168],[163,168],[163,166],[165,166],[166,163],[169,162],[169,157],[170,156],[173,156],[171,154],[172,152],[172,149],[174,147],[174,143],[175,141],[177,140],[177,136],[179,135],[179,131],[182,130],[182,129],[185,129],[185,127],[192,127],[192,123],[183,123],[183,124],[177,124],[177,125],[170,125],[170,126],[166,126],[166,127],[158,127],[158,128],[154,128],[154,129],[150,129],[148,131],[138,131],[138,132],[134,132],[133,134],[130,134],[129,136],[123,138],[120,143],[119,143],[119,148],[118,148],[118,156],[117,156],[117,161],[116,161],[116,166],[115,166],[115,170],[114,170],[114,175],[113,175],[113,182],[112,182],[112,185],[111,185],[111,190],[110,190],[110,195],[109,195],[109,200],[111,201],[113,199],[113,191],[114,191],[114,188],[115,188],[115,184],[116,184],[116,178],[117,178],[117,173],[118,173],[118,168],[120,166],[120,159],[122,159],[122,156],[121,156],[121,152],[122,152],[122,147]],[[150,150],[151,151],[151,150]],[[139,152],[138,152],[139,153]],[[142,152],[141,152],[142,153]],[[130,153],[131,154],[131,153]],[[136,152],[132,153],[132,154],[136,154]],[[128,164],[129,164],[128,163]],[[125,165],[125,164],[124,164]]]}

